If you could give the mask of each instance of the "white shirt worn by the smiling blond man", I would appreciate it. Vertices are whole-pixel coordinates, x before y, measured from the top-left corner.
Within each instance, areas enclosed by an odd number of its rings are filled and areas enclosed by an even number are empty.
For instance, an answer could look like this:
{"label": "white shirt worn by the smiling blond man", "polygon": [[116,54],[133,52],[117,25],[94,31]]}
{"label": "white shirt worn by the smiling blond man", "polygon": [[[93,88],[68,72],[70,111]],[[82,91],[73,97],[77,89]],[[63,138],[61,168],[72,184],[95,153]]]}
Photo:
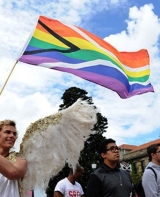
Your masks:
{"label": "white shirt worn by the smiling blond man", "polygon": [[0,197],[19,197],[18,181],[0,174]]}

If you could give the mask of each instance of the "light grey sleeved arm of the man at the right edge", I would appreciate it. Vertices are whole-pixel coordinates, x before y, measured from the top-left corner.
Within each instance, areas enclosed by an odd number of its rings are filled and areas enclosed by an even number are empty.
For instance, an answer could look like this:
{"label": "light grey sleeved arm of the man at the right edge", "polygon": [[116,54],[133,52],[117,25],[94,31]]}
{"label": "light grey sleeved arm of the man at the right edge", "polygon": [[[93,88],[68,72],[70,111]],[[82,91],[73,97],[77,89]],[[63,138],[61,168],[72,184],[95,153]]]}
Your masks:
{"label": "light grey sleeved arm of the man at the right edge", "polygon": [[158,185],[154,172],[146,169],[142,177],[142,185],[146,197],[158,197]]}

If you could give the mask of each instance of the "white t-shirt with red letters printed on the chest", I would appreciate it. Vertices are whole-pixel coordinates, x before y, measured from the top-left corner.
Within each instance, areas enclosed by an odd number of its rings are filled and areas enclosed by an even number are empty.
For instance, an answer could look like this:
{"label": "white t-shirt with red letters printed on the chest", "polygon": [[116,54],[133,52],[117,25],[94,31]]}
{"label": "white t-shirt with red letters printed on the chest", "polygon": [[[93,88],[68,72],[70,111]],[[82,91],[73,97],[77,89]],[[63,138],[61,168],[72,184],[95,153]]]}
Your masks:
{"label": "white t-shirt with red letters printed on the chest", "polygon": [[59,181],[54,191],[61,192],[64,197],[80,197],[84,194],[81,185],[78,182],[72,184],[68,178],[64,178]]}

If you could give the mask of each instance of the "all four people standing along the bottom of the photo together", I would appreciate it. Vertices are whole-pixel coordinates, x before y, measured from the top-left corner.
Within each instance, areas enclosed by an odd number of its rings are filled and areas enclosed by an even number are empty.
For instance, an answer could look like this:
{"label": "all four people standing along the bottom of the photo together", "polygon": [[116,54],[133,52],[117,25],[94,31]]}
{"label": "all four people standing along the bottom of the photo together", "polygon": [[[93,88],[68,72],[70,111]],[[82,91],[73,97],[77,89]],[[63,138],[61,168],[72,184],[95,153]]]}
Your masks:
{"label": "all four people standing along the bottom of the photo together", "polygon": [[[27,161],[21,155],[11,151],[18,132],[12,120],[0,121],[0,197],[20,197],[19,182],[25,176]],[[160,197],[160,144],[147,148],[148,166],[143,174],[142,184],[146,197]],[[70,170],[68,177],[60,180],[53,192],[53,197],[136,197],[131,175],[120,168],[119,147],[116,141],[104,139],[99,146],[102,158],[101,166],[90,174],[86,194],[78,183],[83,176],[84,167],[77,166]]]}

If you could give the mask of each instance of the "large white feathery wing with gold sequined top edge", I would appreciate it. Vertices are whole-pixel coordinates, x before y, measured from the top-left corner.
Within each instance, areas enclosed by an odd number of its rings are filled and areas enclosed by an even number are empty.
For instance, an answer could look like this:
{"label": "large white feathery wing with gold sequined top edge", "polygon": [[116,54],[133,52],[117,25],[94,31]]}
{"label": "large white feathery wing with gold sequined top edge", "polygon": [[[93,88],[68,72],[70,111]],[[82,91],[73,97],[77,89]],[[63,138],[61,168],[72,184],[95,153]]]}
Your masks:
{"label": "large white feathery wing with gold sequined top edge", "polygon": [[84,141],[93,134],[97,109],[78,100],[71,107],[39,119],[27,128],[20,153],[28,161],[27,173],[21,182],[22,194],[27,190],[45,189],[67,161],[74,167]]}

